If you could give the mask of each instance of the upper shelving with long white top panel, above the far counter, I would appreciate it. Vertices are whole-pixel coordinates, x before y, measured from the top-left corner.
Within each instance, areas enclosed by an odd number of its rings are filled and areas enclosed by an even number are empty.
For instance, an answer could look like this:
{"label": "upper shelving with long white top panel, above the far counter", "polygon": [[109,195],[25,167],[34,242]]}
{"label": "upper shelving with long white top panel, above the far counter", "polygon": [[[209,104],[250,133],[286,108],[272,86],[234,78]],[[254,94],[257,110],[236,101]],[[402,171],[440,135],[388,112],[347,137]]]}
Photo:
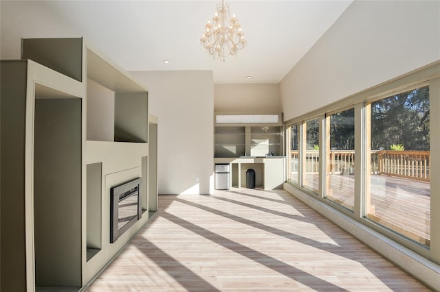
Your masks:
{"label": "upper shelving with long white top panel, above the far counter", "polygon": [[214,157],[283,156],[283,117],[214,113]]}

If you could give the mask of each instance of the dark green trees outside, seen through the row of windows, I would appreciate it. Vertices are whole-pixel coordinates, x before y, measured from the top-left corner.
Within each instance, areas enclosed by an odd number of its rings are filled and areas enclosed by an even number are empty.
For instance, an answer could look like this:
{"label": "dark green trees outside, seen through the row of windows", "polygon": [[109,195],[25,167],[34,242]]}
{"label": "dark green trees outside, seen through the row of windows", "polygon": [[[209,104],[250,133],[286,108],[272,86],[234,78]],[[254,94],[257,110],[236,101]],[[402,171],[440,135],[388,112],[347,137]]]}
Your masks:
{"label": "dark green trees outside, seen through the row of windows", "polygon": [[[416,88],[371,103],[371,149],[428,150],[430,145],[429,86]],[[353,108],[330,116],[330,148],[354,150],[355,112]],[[317,150],[318,119],[306,123],[306,149]],[[292,149],[298,149],[298,127],[292,127]],[[405,145],[405,147],[403,147]],[[400,146],[396,146],[400,149]]]}

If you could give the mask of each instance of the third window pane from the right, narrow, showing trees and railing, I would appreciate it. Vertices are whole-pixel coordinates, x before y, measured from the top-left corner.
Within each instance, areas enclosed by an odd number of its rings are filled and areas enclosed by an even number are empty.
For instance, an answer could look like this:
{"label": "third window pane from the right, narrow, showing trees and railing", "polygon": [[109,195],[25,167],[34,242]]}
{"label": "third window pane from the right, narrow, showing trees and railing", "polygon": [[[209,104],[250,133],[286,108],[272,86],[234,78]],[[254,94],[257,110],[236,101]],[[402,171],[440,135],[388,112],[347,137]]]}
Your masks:
{"label": "third window pane from the right, narrow, showing trees and railing", "polygon": [[319,120],[306,123],[306,147],[303,186],[315,193],[319,191]]}

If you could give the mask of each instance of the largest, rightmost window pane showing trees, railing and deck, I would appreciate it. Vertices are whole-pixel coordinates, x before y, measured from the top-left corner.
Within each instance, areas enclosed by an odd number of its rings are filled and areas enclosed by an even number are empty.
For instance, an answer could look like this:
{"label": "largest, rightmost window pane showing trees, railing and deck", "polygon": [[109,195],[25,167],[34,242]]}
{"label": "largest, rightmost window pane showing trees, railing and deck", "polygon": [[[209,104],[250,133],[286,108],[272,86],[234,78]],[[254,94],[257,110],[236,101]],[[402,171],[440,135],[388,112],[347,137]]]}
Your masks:
{"label": "largest, rightmost window pane showing trees, railing and deck", "polygon": [[428,246],[429,109],[428,86],[371,104],[371,180],[366,196],[369,219]]}

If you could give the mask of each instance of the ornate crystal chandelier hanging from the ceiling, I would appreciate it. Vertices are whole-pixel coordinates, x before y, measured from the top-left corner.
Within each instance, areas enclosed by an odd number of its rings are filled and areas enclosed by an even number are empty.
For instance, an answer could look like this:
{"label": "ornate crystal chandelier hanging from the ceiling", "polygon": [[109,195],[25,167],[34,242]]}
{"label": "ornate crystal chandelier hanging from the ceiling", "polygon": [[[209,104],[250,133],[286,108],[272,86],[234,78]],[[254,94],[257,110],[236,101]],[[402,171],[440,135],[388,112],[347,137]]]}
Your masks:
{"label": "ornate crystal chandelier hanging from the ceiling", "polygon": [[241,25],[235,14],[231,17],[229,3],[221,0],[217,4],[212,23],[206,23],[206,32],[201,36],[200,42],[212,55],[213,59],[225,62],[225,57],[236,56],[236,52],[246,45],[245,34],[241,32]]}

